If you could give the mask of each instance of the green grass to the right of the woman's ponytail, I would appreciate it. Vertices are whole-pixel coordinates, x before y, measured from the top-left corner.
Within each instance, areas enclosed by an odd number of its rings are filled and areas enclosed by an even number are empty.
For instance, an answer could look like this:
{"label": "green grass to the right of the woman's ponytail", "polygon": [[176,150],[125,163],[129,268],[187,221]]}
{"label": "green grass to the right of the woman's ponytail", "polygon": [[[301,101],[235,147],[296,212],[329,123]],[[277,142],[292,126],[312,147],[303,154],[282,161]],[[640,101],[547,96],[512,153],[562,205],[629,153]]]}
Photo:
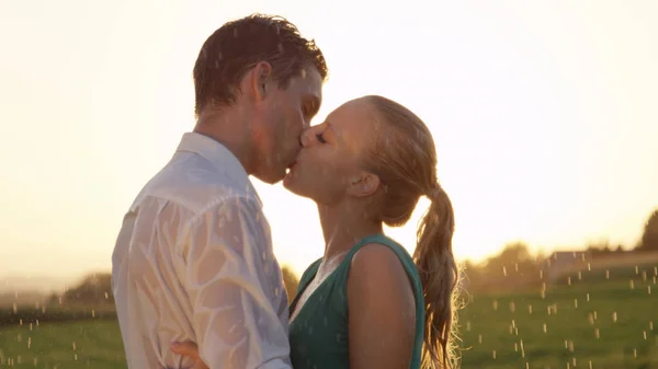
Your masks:
{"label": "green grass to the right of the woman's ponytail", "polygon": [[[649,290],[649,287],[653,290]],[[658,368],[653,279],[475,296],[460,314],[463,368]]]}

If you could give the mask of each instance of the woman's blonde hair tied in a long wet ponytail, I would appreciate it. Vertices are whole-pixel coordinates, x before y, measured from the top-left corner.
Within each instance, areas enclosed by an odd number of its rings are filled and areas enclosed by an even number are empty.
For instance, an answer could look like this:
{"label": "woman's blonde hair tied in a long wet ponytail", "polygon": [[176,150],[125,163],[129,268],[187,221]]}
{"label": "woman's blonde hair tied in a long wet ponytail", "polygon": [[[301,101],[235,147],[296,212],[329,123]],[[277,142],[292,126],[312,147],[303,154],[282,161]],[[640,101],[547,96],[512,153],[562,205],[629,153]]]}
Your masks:
{"label": "woman's blonde hair tied in a long wet ponytail", "polygon": [[426,124],[405,106],[386,97],[365,97],[383,129],[365,165],[376,173],[386,191],[381,220],[405,224],[420,196],[431,205],[417,232],[413,260],[426,302],[423,368],[452,368],[456,321],[458,269],[452,251],[455,228],[452,203],[436,177],[436,150]]}

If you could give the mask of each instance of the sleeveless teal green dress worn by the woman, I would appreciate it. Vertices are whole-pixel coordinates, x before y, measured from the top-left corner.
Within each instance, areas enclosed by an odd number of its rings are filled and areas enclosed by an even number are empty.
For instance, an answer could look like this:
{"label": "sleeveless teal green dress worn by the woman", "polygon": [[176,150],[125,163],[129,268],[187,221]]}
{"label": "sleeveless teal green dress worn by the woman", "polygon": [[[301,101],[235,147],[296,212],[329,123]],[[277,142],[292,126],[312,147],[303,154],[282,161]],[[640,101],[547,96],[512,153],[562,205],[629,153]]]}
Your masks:
{"label": "sleeveless teal green dress worn by the woman", "polygon": [[[384,234],[374,234],[356,243],[339,266],[308,297],[290,326],[291,360],[295,369],[348,369],[350,351],[348,337],[348,272],[354,253],[363,245],[381,243],[400,258],[410,277],[416,299],[416,335],[411,369],[420,368],[424,328],[424,299],[420,276],[409,253]],[[299,289],[291,304],[294,311],[304,289],[313,280],[322,260],[313,263],[299,280]]]}

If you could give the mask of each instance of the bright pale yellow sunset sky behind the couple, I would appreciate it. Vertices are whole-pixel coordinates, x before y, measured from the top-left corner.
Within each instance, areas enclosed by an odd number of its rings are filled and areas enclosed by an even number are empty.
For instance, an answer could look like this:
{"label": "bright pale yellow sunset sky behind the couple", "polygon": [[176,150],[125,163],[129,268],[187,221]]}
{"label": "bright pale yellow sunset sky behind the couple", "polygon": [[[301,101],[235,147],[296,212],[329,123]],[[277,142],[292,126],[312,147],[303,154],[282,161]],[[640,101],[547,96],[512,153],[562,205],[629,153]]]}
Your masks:
{"label": "bright pale yellow sunset sky behind the couple", "polygon": [[[632,246],[658,207],[654,0],[0,0],[0,278],[110,269],[124,212],[194,125],[201,45],[251,12],[324,50],[314,124],[374,93],[430,126],[460,258]],[[300,273],[324,247],[315,206],[256,182]],[[390,232],[409,250],[427,205]]]}

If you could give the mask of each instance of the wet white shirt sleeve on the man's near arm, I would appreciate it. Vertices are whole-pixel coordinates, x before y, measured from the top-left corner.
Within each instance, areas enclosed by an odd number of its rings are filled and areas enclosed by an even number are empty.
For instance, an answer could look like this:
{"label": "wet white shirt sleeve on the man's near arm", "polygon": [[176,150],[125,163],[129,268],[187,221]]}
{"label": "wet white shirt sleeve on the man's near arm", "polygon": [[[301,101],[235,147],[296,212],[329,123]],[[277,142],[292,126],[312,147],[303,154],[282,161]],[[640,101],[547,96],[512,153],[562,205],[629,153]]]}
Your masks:
{"label": "wet white shirt sleeve on the man's near arm", "polygon": [[285,290],[260,206],[226,200],[189,234],[186,289],[204,362],[211,369],[292,369],[287,316],[282,321],[279,311]]}

